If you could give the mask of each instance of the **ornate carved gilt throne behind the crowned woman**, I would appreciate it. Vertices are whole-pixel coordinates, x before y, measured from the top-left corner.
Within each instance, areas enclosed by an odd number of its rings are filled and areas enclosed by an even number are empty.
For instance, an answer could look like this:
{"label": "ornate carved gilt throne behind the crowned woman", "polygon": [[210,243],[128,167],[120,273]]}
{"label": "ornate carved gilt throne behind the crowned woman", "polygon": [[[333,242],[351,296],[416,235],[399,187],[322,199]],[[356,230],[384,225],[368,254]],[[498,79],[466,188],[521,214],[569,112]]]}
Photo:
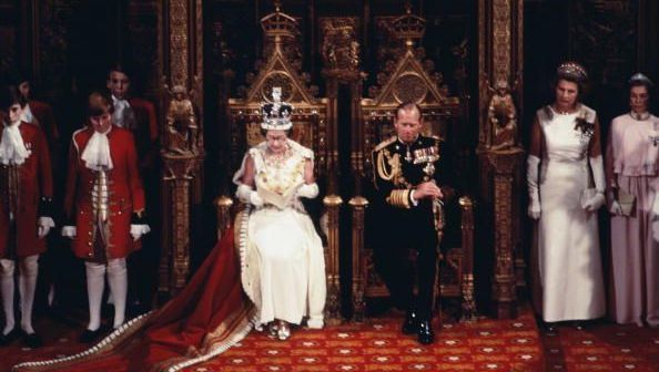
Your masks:
{"label": "ornate carved gilt throne behind the crowned woman", "polygon": [[[282,89],[282,101],[293,105],[293,128],[290,137],[315,153],[315,176],[321,190],[333,177],[327,162],[331,148],[327,148],[328,100],[315,97],[317,91],[308,86],[308,75],[300,73],[302,62],[291,59],[296,53],[297,22],[294,18],[280,11],[261,20],[265,34],[265,62],[254,76],[250,78],[250,86],[243,99],[229,100],[229,117],[231,133],[231,162],[227,172],[235,172],[241,165],[243,154],[253,145],[264,141],[261,134],[261,104],[272,101],[273,86]],[[325,267],[327,276],[326,321],[332,323],[339,319],[341,296],[338,275],[338,208],[341,203],[335,195],[327,195],[324,213],[327,215],[327,228],[324,229]],[[233,202],[229,196],[217,199],[219,223],[224,227],[231,220],[230,210]]]}

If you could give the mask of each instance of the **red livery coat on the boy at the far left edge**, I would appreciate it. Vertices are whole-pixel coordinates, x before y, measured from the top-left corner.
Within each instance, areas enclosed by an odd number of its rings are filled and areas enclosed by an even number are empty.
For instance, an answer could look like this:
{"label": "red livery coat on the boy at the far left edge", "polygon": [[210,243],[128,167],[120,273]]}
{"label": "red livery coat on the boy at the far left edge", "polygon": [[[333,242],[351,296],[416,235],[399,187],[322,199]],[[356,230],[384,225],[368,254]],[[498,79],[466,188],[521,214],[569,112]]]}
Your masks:
{"label": "red livery coat on the boy at the far left edge", "polygon": [[[18,166],[18,206],[16,211],[16,255],[19,258],[45,251],[45,239],[37,236],[39,203],[42,197],[52,199],[52,170],[50,153],[43,132],[31,124],[21,123],[19,131],[26,147],[32,153]],[[1,134],[0,134],[1,137]],[[12,166],[0,164],[0,192],[9,190],[8,172]],[[9,205],[0,197],[0,258],[9,254],[11,236]]]}

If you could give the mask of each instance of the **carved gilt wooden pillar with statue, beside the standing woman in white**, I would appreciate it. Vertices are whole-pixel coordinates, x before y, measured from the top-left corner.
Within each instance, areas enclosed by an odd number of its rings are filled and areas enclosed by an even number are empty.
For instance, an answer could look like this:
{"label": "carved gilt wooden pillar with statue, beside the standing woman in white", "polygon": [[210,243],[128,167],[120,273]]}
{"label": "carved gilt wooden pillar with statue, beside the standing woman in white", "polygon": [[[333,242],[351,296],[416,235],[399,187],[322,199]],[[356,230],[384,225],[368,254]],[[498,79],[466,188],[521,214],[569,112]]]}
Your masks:
{"label": "carved gilt wooden pillar with statue, beside the standing woman in white", "polygon": [[[493,209],[493,231],[484,237],[494,241],[495,267],[493,301],[499,318],[516,316],[516,266],[524,265],[519,251],[519,203],[514,195],[524,195],[517,177],[524,151],[517,146],[518,127],[514,118],[520,117],[515,107],[521,107],[523,62],[521,0],[479,0],[478,2],[478,157],[480,195]],[[489,86],[496,82],[497,87]],[[511,87],[506,87],[515,82]],[[500,91],[500,92],[499,92]],[[501,125],[501,120],[507,120]],[[524,281],[520,281],[524,282]]]}

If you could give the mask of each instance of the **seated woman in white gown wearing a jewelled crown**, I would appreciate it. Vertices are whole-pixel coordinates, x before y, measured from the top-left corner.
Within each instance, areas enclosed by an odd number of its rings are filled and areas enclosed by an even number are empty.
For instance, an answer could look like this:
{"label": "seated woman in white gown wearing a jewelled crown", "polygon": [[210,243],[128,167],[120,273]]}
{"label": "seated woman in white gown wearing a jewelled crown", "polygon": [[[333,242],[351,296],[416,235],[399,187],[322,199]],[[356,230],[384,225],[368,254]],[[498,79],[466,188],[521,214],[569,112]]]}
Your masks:
{"label": "seated woman in white gown wearing a jewelled crown", "polygon": [[267,324],[281,340],[290,324],[308,317],[323,327],[325,262],[323,245],[300,198],[315,198],[311,149],[287,137],[293,107],[280,101],[263,105],[265,142],[250,148],[234,175],[236,195],[251,206],[241,225],[243,289],[256,306],[256,328]]}

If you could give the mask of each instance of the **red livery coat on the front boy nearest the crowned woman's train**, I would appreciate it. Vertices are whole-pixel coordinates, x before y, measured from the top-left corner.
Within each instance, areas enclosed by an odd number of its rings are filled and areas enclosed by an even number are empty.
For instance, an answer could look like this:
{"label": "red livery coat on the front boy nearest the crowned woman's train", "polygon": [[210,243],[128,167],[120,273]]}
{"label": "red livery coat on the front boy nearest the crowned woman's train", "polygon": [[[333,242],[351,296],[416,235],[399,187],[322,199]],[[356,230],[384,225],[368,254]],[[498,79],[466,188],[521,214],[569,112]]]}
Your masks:
{"label": "red livery coat on the front boy nearest the crowned woman's train", "polygon": [[[75,221],[78,236],[73,240],[73,254],[83,259],[94,259],[93,236],[97,228],[93,216],[92,189],[97,177],[80,158],[94,130],[90,126],[73,133],[69,149],[69,172],[64,213]],[[138,154],[133,135],[129,130],[112,125],[108,133],[113,168],[108,170],[109,235],[105,255],[108,259],[123,258],[139,249],[130,235],[132,213],[144,210],[144,189],[138,167]]]}

